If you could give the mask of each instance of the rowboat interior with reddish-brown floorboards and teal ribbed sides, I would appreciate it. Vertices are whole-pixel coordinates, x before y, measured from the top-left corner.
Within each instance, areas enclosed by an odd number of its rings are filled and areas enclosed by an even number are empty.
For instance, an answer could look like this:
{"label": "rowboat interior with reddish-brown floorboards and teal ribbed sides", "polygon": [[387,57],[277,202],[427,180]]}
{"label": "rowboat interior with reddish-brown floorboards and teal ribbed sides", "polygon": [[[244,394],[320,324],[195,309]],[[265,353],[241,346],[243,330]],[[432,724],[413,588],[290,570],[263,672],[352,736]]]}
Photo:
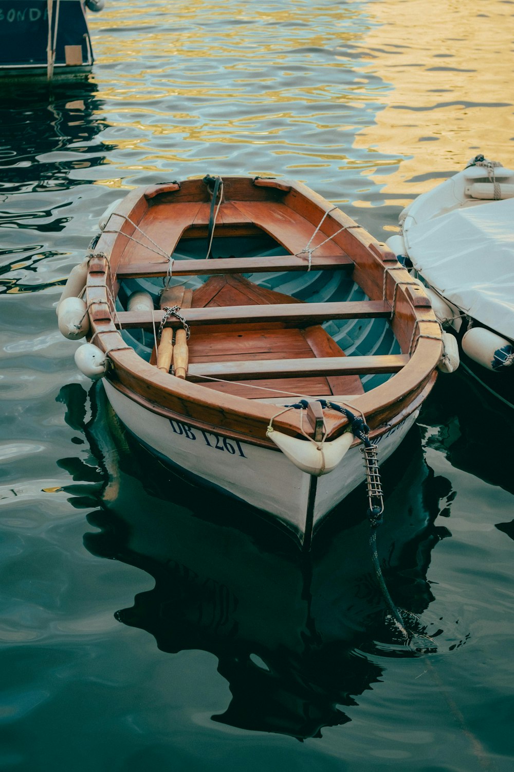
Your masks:
{"label": "rowboat interior with reddish-brown floorboards and teal ribbed sides", "polygon": [[[370,303],[352,278],[354,262],[333,240],[322,243],[324,233],[313,238],[315,228],[299,212],[281,201],[270,207],[267,201],[224,200],[210,232],[212,201],[180,201],[170,215],[167,198],[160,195],[139,223],[137,239],[126,242],[117,269],[117,311],[124,317],[129,297],[140,291],[152,296],[156,309],[163,297],[167,305],[181,308],[230,307],[233,312],[238,306],[237,318],[232,313],[226,323],[194,327],[188,380],[227,394],[280,402],[362,394],[390,377],[317,368],[315,360],[399,354],[400,347],[387,321],[390,306]],[[315,249],[310,269],[306,245]],[[353,317],[322,324],[294,318],[298,303],[328,301],[354,303]],[[270,306],[287,304],[294,304],[295,313],[279,320]],[[251,320],[249,306],[260,306],[258,320]],[[125,329],[123,337],[155,364],[153,330]],[[301,373],[291,372],[288,363],[293,361],[301,361]]]}

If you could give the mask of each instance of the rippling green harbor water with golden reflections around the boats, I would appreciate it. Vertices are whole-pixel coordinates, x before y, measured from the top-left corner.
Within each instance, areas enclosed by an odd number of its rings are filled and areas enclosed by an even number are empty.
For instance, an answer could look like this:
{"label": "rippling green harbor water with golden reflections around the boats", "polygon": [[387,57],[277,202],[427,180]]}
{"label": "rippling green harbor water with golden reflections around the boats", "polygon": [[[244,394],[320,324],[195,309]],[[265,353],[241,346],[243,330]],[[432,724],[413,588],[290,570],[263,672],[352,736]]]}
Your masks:
{"label": "rippling green harbor water with golden reflections around the boats", "polygon": [[500,0],[109,0],[88,80],[2,87],[2,772],[512,769],[514,418],[441,377],[385,465],[406,649],[361,490],[301,557],[123,434],[54,305],[135,185],[296,178],[385,239],[479,151],[512,165],[513,22]]}

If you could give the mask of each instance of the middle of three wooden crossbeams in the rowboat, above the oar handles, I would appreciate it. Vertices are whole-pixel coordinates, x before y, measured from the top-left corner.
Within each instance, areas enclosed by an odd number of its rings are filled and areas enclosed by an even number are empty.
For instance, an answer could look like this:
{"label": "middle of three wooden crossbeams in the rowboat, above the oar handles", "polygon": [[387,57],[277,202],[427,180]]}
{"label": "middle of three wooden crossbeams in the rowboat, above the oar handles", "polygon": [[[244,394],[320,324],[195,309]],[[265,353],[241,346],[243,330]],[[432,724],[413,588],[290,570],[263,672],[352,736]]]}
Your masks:
{"label": "middle of three wooden crossbeams in the rowboat, above the oar handles", "polygon": [[[331,319],[387,319],[391,306],[383,300],[358,300],[344,303],[270,303],[266,306],[209,306],[188,308],[183,316],[190,325],[227,323],[288,322],[295,324],[319,324]],[[163,318],[162,311],[154,311],[157,325]],[[122,327],[152,327],[149,311],[119,311],[116,314]],[[181,327],[180,321],[171,317],[170,327]]]}

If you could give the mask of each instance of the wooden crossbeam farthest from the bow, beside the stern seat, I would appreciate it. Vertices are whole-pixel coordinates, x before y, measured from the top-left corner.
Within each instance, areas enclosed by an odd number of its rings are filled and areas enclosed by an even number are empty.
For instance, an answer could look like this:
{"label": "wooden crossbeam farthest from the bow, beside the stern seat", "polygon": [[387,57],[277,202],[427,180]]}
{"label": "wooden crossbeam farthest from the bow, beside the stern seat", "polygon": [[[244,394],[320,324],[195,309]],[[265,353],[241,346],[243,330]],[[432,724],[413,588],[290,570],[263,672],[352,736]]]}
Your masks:
{"label": "wooden crossbeam farthest from the bow, beside the stern seat", "polygon": [[[172,266],[173,276],[213,276],[217,273],[264,273],[266,271],[306,271],[307,255],[277,255],[267,257],[222,257],[209,260],[175,260]],[[354,262],[348,255],[312,256],[311,270],[351,270]],[[138,276],[167,276],[167,262],[131,262],[119,266],[119,279],[135,279]]]}

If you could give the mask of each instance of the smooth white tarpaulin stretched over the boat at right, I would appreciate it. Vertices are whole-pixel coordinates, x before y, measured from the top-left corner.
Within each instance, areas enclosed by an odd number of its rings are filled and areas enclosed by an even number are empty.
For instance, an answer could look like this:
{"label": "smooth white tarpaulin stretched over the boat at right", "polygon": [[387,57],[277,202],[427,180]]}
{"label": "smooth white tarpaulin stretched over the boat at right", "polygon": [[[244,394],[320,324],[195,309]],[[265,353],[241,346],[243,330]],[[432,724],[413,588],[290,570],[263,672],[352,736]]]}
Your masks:
{"label": "smooth white tarpaulin stretched over the boat at right", "polygon": [[514,339],[514,198],[412,223],[408,256],[425,281],[486,327]]}

